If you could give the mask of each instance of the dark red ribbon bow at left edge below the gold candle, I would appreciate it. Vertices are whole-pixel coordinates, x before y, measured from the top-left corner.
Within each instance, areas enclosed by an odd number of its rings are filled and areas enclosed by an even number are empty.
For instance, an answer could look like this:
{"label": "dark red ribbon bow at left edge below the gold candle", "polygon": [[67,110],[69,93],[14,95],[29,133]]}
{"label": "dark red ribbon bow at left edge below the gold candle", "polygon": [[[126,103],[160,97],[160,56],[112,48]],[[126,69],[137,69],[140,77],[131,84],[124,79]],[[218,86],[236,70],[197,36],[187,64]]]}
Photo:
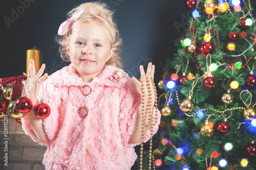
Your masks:
{"label": "dark red ribbon bow at left edge below the gold candle", "polygon": [[17,100],[22,95],[22,81],[26,80],[27,76],[9,77],[2,79],[2,85],[8,85],[13,82],[11,101]]}

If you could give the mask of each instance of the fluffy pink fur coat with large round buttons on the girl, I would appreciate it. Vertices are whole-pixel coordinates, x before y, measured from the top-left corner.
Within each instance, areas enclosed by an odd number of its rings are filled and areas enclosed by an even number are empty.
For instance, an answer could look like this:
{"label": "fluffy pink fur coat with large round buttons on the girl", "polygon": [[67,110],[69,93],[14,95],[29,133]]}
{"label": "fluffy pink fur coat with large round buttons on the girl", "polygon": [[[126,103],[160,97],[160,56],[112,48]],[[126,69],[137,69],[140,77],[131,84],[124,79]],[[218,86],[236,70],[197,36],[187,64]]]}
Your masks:
{"label": "fluffy pink fur coat with large round buttons on the girl", "polygon": [[[22,118],[25,133],[47,148],[43,164],[46,169],[131,169],[137,155],[129,142],[137,112],[141,104],[138,86],[126,78],[114,82],[109,77],[118,68],[105,66],[91,83],[83,82],[72,64],[56,71],[44,82],[44,99],[51,114],[44,119],[49,143],[38,140],[30,126],[28,115]],[[88,96],[81,88],[89,85]],[[39,96],[42,95],[42,88]],[[88,115],[80,117],[80,107],[88,108]],[[155,134],[160,123],[154,126]],[[144,142],[150,138],[150,131]]]}

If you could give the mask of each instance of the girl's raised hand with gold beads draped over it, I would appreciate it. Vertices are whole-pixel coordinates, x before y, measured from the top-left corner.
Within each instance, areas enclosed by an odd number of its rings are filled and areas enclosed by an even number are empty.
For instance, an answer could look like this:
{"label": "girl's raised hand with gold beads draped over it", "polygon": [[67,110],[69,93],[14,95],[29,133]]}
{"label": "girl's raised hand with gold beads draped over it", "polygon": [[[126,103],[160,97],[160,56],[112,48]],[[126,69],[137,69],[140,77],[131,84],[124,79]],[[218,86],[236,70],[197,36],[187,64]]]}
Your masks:
{"label": "girl's raised hand with gold beads draped over it", "polygon": [[[154,86],[153,86],[153,82],[154,82],[154,74],[155,74],[155,65],[152,65],[152,62],[148,63],[147,65],[147,69],[146,69],[146,74],[145,74],[145,71],[143,69],[143,66],[140,65],[140,75],[141,75],[141,81],[143,83],[141,83],[139,80],[137,80],[135,77],[132,77],[133,81],[137,84],[137,86],[139,87],[140,89],[140,95],[141,97],[147,102],[147,101],[150,101],[150,99],[148,99],[150,96],[150,93],[151,93],[151,100],[152,100],[152,104],[154,105],[155,103],[155,89],[154,89]],[[146,79],[148,78],[148,79]],[[146,82],[147,80],[149,80],[149,82]],[[153,82],[152,82],[153,80]],[[147,86],[147,84],[150,83],[149,86]],[[142,89],[142,84],[144,84],[144,89]],[[142,91],[144,91],[143,95],[144,97],[142,96]]]}

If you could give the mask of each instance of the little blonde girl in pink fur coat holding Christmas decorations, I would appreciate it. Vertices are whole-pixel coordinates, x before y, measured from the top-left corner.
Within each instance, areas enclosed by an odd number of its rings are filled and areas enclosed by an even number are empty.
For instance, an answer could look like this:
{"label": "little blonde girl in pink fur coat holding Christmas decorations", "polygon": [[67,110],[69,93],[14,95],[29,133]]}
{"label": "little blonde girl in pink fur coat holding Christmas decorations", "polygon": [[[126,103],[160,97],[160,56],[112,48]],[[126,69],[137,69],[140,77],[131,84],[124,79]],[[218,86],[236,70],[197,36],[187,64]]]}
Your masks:
{"label": "little blonde girl in pink fur coat holding Christmas decorations", "polygon": [[[131,169],[137,158],[133,147],[141,136],[146,142],[158,130],[160,112],[153,108],[154,92],[148,90],[154,91],[153,84],[145,90],[119,69],[122,39],[112,15],[100,3],[84,3],[69,12],[59,27],[58,43],[62,59],[71,64],[47,80],[47,74],[42,76],[45,64],[36,74],[30,61],[27,96],[33,108],[44,99],[51,113],[38,119],[32,108],[22,127],[48,147],[42,161],[46,169]],[[147,78],[154,79],[155,66],[149,63],[146,74],[140,66],[140,72],[145,84]],[[152,103],[144,97],[150,93]],[[158,111],[157,117],[148,116],[150,111]],[[148,130],[148,120],[153,129]]]}

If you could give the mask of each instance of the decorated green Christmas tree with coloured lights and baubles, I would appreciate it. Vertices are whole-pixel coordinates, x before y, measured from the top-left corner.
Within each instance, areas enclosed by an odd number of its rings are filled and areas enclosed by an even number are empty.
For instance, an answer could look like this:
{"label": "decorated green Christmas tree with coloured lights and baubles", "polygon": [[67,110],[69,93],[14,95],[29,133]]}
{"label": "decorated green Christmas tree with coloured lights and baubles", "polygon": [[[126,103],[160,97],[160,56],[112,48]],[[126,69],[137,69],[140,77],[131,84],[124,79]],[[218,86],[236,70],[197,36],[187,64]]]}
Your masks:
{"label": "decorated green Christmas tree with coloured lights and baubles", "polygon": [[158,83],[162,140],[154,143],[154,168],[256,169],[251,2],[186,3],[193,17]]}

